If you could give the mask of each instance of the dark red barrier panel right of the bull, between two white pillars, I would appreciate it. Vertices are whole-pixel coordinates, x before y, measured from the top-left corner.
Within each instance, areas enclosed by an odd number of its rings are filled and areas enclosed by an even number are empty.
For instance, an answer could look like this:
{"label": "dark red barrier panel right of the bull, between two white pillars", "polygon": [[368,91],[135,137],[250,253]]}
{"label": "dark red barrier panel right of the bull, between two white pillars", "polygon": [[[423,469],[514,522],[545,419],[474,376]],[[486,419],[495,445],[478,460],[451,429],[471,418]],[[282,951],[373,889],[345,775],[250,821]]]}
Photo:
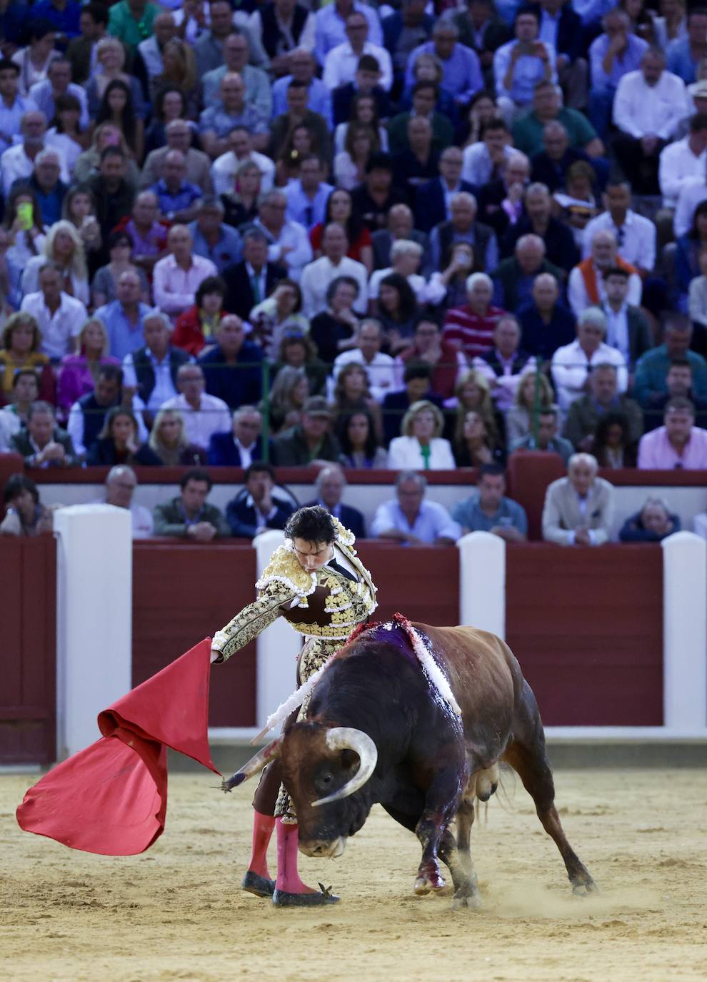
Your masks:
{"label": "dark red barrier panel right of the bull, between two white pillars", "polygon": [[659,545],[508,546],[506,638],[546,726],[662,726]]}

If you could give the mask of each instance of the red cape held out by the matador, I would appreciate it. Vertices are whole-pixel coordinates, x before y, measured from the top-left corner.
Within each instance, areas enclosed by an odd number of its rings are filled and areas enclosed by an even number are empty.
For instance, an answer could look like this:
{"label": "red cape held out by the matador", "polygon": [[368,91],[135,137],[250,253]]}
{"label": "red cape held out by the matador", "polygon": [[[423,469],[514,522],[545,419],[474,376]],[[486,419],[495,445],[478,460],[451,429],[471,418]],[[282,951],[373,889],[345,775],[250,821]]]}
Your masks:
{"label": "red cape held out by the matador", "polygon": [[98,716],[103,736],[59,764],[25,794],[25,832],[103,855],[134,855],[165,829],[167,748],[220,772],[207,736],[211,639]]}

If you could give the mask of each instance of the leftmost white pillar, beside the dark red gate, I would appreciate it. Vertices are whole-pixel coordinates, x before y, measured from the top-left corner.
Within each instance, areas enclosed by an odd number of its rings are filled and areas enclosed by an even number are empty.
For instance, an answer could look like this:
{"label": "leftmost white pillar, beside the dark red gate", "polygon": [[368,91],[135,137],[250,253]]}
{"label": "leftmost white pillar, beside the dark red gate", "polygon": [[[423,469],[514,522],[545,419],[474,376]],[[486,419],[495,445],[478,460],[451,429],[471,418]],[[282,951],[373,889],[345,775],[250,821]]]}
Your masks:
{"label": "leftmost white pillar, beside the dark red gate", "polygon": [[98,713],[130,688],[132,527],[111,505],[54,515],[57,544],[57,752],[100,736]]}

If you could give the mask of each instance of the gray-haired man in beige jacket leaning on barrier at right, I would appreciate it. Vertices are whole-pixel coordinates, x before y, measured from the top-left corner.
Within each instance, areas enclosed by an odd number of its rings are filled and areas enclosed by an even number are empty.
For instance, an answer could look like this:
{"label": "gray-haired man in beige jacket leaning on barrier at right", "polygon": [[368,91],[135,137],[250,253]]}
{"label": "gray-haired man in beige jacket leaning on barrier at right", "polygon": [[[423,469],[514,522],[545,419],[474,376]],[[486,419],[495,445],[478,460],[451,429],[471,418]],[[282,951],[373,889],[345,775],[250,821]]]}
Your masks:
{"label": "gray-haired man in beige jacket leaning on barrier at right", "polygon": [[614,488],[597,477],[589,454],[570,458],[567,477],[549,485],[542,509],[542,537],[560,546],[600,546],[611,537]]}

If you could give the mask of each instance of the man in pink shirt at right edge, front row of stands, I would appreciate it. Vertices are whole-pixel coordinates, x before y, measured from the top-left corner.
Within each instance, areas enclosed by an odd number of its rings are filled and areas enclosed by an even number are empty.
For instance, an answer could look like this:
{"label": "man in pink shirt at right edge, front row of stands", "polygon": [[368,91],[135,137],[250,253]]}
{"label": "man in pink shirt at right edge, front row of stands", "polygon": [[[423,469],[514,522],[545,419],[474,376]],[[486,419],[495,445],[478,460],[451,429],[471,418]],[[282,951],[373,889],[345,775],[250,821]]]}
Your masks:
{"label": "man in pink shirt at right edge, front row of stands", "polygon": [[694,425],[694,406],[688,399],[669,400],[664,426],[640,438],[638,467],[652,470],[707,469],[707,429]]}

